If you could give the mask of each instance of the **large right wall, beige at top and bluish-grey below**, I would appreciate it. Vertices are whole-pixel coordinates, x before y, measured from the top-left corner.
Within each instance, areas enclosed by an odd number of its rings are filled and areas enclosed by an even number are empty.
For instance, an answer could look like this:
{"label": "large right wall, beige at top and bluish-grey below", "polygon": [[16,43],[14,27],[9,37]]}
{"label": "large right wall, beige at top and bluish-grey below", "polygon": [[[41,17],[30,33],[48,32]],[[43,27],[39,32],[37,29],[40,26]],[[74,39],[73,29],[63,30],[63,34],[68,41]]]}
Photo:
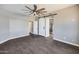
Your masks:
{"label": "large right wall, beige at top and bluish-grey below", "polygon": [[79,45],[78,39],[78,8],[74,5],[56,11],[58,13],[54,19],[54,37],[59,41],[69,42]]}

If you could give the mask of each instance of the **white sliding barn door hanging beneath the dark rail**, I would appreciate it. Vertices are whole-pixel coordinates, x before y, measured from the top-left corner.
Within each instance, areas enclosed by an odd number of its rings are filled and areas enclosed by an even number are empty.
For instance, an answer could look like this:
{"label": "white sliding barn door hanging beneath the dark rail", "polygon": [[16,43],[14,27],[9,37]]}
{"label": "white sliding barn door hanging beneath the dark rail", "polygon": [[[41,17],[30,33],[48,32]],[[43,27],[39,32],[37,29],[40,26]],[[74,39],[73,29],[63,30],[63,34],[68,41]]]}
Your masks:
{"label": "white sliding barn door hanging beneath the dark rail", "polygon": [[39,19],[39,35],[45,36],[45,19]]}

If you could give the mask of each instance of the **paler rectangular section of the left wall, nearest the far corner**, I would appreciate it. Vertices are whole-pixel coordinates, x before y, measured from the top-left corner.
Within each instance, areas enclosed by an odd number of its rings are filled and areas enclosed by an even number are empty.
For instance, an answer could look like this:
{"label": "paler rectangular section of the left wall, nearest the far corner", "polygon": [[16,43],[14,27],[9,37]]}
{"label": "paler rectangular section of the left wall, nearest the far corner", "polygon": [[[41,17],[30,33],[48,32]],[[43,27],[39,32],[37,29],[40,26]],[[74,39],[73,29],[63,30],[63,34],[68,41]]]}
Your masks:
{"label": "paler rectangular section of the left wall, nearest the far corner", "polygon": [[28,23],[24,19],[9,19],[9,38],[17,38],[28,35]]}

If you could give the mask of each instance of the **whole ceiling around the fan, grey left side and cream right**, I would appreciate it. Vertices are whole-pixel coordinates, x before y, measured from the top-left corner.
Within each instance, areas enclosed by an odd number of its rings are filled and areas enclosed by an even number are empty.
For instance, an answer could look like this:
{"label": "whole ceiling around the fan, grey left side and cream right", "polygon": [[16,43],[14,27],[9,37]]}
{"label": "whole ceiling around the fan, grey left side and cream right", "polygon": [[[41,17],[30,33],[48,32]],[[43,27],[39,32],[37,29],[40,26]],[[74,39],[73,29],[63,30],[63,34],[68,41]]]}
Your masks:
{"label": "whole ceiling around the fan, grey left side and cream right", "polygon": [[[62,8],[66,8],[71,6],[72,4],[39,4],[38,9],[40,8],[45,8],[48,12],[52,12],[55,10],[59,10]],[[28,15],[29,13],[25,13],[25,11],[23,9],[25,9],[24,4],[3,4],[0,6],[0,8],[5,9],[13,14],[17,14],[17,15]],[[28,5],[30,8],[33,9],[33,5],[30,4]],[[28,9],[27,9],[28,10]]]}

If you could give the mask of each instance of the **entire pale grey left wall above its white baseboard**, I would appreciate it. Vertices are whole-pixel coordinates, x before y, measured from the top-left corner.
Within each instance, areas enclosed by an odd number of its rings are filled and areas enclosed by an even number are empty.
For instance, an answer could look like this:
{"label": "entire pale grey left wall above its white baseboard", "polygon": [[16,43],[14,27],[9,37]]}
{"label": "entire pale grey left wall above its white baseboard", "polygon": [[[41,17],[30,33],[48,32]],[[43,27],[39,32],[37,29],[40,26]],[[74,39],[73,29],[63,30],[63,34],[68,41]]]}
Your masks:
{"label": "entire pale grey left wall above its white baseboard", "polygon": [[0,9],[0,43],[28,35],[28,21]]}

